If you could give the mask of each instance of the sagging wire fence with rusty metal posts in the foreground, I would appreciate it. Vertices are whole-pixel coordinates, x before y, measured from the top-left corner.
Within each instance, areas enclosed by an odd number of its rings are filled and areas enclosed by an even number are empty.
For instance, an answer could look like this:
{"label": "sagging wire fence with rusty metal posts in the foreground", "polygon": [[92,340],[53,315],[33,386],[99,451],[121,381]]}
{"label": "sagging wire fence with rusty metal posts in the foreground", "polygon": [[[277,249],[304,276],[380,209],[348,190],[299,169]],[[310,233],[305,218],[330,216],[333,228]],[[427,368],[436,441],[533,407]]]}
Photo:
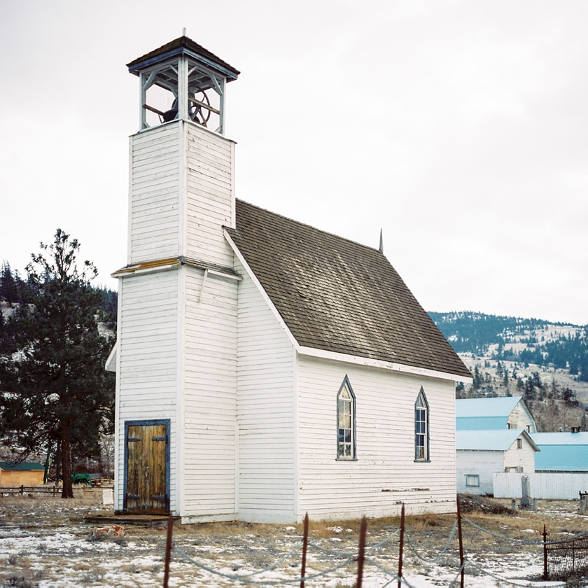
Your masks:
{"label": "sagging wire fence with rusty metal posts in the foreground", "polygon": [[[467,524],[470,528],[480,533],[484,533],[493,537],[494,540],[504,541],[512,545],[517,545],[519,548],[536,548],[541,549],[543,553],[543,574],[542,577],[534,577],[531,580],[512,579],[504,575],[496,574],[492,570],[484,568],[476,561],[476,554],[474,552],[465,556],[464,540],[463,540],[463,524]],[[340,578],[344,573],[349,578],[350,575],[356,578],[356,588],[362,588],[364,570],[372,568],[377,570],[381,575],[384,575],[383,584],[381,588],[391,587],[397,585],[398,588],[402,586],[414,588],[410,582],[409,577],[405,575],[403,570],[403,562],[409,554],[413,559],[416,559],[427,566],[437,563],[442,563],[444,567],[453,568],[454,576],[449,584],[450,588],[465,585],[465,575],[471,576],[487,576],[500,582],[501,584],[511,584],[513,586],[531,587],[536,586],[535,580],[569,580],[570,577],[579,577],[582,573],[588,573],[588,533],[582,535],[575,535],[573,538],[564,540],[548,541],[549,533],[544,526],[542,533],[542,540],[521,540],[511,538],[507,535],[494,533],[488,529],[476,524],[473,521],[461,516],[461,506],[459,498],[457,499],[457,517],[453,527],[447,537],[444,545],[438,550],[435,556],[426,556],[418,547],[418,538],[412,538],[407,532],[405,526],[405,506],[402,505],[402,512],[400,515],[400,528],[393,531],[383,540],[374,543],[373,545],[366,545],[367,534],[367,520],[363,517],[360,525],[358,548],[349,551],[339,551],[337,549],[328,549],[316,542],[309,540],[309,518],[308,514],[304,517],[304,531],[302,538],[295,542],[295,545],[283,554],[277,561],[260,568],[250,573],[228,573],[227,571],[216,570],[211,566],[207,566],[201,561],[197,561],[192,556],[187,554],[183,549],[173,545],[173,528],[174,519],[170,514],[167,525],[167,543],[165,552],[165,571],[163,587],[168,588],[170,576],[170,563],[172,561],[172,554],[179,559],[186,561],[203,572],[209,573],[218,580],[227,580],[232,584],[239,582],[246,586],[300,586],[300,588],[309,588],[313,580],[326,579],[328,577]],[[455,539],[457,535],[457,546]],[[395,540],[398,538],[398,546],[395,545]],[[393,556],[398,556],[398,561],[395,566],[388,564],[384,565],[377,555],[390,549],[393,544]],[[406,548],[406,549],[405,549]],[[307,559],[309,549],[314,549],[316,552],[331,556],[332,559],[337,559],[335,563],[328,568],[313,573],[307,573]],[[427,551],[430,552],[430,549]],[[457,555],[458,554],[458,555]],[[387,560],[391,559],[388,553]],[[268,573],[275,572],[281,566],[288,565],[292,568],[296,565],[296,561],[300,561],[300,575],[296,577],[263,577]],[[472,582],[473,585],[479,582]],[[436,582],[439,585],[439,582]],[[565,581],[561,584],[551,584],[552,588],[565,586]]]}

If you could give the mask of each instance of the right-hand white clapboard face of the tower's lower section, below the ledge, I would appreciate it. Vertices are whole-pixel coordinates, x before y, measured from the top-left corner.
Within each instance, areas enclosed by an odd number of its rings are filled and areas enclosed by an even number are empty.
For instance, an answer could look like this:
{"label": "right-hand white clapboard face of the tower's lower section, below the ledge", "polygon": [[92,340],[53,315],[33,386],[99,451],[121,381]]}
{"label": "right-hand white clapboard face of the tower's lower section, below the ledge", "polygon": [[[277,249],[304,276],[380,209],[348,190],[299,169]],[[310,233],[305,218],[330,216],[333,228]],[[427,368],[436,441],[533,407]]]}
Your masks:
{"label": "right-hand white clapboard face of the tower's lower section, below the ledge", "polygon": [[183,521],[235,518],[237,281],[184,266]]}

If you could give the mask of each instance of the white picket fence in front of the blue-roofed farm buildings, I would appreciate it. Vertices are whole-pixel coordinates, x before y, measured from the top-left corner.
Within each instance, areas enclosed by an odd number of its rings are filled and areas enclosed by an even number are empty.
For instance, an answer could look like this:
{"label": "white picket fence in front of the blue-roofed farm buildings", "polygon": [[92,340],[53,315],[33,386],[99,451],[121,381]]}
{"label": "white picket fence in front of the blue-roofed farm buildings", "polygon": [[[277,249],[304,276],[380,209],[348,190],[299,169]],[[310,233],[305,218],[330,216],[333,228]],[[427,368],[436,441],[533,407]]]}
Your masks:
{"label": "white picket fence in front of the blue-roofed farm buildings", "polygon": [[588,492],[588,474],[517,474],[496,472],[494,474],[495,498],[522,498],[521,477],[528,476],[532,498],[554,500],[579,500],[580,492]]}

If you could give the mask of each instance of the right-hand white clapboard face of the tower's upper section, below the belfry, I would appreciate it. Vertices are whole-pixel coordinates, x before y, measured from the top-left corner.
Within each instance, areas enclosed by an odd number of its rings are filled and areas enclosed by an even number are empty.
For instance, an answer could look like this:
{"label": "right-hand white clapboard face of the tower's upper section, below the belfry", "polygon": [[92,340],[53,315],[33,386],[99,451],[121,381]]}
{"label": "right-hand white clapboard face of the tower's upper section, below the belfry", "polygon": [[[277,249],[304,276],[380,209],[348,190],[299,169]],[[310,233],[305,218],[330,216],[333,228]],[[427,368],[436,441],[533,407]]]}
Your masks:
{"label": "right-hand white clapboard face of the tower's upper section, below the belfry", "polygon": [[235,226],[235,144],[186,124],[186,256],[232,266],[223,225]]}

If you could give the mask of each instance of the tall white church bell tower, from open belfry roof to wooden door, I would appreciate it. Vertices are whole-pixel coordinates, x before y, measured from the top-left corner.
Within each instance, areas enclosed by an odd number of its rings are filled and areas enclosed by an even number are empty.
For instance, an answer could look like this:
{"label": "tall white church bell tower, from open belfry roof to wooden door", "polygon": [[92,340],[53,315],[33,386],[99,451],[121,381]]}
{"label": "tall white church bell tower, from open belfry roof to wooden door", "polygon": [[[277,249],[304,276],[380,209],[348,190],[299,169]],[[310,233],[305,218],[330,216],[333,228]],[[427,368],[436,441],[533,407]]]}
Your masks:
{"label": "tall white church bell tower, from open belfry roof to wooden door", "polygon": [[139,130],[127,264],[113,274],[115,509],[232,519],[240,276],[223,235],[235,228],[235,142],[224,134],[239,71],[185,31],[127,66],[139,77]]}

